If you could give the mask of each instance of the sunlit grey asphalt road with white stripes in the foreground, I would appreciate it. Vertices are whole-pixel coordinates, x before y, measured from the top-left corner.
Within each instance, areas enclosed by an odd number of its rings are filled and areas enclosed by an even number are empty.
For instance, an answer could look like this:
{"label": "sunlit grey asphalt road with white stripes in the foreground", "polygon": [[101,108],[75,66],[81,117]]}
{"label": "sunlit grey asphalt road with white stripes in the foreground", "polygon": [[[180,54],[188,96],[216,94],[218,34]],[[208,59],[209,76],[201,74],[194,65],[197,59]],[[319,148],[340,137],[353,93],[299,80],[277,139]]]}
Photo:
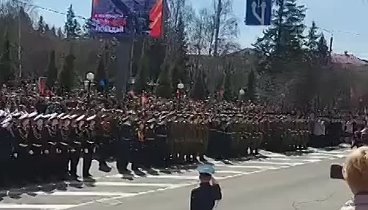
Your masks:
{"label": "sunlit grey asphalt road with white stripes in the foreground", "polygon": [[[346,153],[287,156],[264,152],[267,158],[214,162],[224,196],[217,210],[339,209],[351,193],[343,181],[329,179],[329,166],[342,162]],[[171,172],[134,176],[133,180],[108,174],[94,184],[68,183],[66,189],[49,191],[12,190],[3,196],[0,209],[187,210],[196,173],[189,169]]]}

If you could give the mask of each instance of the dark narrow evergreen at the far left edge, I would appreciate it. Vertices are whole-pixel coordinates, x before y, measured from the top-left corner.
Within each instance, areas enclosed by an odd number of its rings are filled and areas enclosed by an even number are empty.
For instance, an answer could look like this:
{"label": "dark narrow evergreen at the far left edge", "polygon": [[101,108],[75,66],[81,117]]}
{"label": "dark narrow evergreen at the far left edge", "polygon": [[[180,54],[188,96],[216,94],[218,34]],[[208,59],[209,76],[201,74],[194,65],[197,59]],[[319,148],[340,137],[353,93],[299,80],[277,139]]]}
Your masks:
{"label": "dark narrow evergreen at the far left edge", "polygon": [[0,83],[3,84],[12,79],[14,79],[14,70],[11,64],[10,41],[7,37],[0,57]]}

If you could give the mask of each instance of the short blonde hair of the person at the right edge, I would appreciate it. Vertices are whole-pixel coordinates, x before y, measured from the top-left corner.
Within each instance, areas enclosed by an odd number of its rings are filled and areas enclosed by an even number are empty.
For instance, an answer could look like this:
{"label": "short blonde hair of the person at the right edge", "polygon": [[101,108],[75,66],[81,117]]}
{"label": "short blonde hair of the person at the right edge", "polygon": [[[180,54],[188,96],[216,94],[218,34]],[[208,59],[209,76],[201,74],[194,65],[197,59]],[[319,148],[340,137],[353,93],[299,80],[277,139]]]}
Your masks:
{"label": "short blonde hair of the person at the right edge", "polygon": [[368,147],[360,147],[349,154],[344,178],[354,194],[368,191]]}

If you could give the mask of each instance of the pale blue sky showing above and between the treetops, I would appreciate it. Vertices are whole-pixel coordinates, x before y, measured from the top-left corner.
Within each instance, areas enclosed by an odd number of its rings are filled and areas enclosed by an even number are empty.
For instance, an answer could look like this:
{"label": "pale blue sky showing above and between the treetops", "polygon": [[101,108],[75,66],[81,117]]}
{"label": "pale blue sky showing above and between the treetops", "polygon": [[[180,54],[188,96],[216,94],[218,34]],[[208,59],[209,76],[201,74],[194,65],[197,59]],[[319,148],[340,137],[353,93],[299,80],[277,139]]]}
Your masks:
{"label": "pale blue sky showing above and between the treetops", "polygon": [[[34,3],[57,11],[66,11],[70,4],[78,15],[88,17],[91,13],[92,0],[34,0]],[[187,0],[194,8],[208,7],[212,0]],[[239,19],[239,43],[249,47],[261,35],[263,27],[245,26],[246,0],[233,0],[234,14]],[[299,0],[307,6],[305,23],[310,25],[314,20],[321,28],[333,32],[334,51],[345,50],[362,58],[368,58],[368,0]],[[352,3],[354,2],[354,3]],[[56,26],[62,26],[65,21],[63,15],[38,11],[46,21]],[[329,39],[331,34],[325,32]]]}

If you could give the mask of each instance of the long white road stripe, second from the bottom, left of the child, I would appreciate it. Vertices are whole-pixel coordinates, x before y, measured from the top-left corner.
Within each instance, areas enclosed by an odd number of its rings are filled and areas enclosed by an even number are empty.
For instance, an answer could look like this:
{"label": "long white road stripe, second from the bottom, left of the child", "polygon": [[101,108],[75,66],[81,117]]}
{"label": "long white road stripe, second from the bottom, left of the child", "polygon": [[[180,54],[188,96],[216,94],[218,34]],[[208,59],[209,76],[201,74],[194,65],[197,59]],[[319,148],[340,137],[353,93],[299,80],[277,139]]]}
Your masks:
{"label": "long white road stripe, second from the bottom, left of the child", "polygon": [[[33,192],[32,192],[33,193]],[[50,195],[50,196],[123,196],[129,197],[136,193],[122,193],[122,192],[89,192],[89,191],[56,191],[56,192],[34,192],[36,195]]]}

